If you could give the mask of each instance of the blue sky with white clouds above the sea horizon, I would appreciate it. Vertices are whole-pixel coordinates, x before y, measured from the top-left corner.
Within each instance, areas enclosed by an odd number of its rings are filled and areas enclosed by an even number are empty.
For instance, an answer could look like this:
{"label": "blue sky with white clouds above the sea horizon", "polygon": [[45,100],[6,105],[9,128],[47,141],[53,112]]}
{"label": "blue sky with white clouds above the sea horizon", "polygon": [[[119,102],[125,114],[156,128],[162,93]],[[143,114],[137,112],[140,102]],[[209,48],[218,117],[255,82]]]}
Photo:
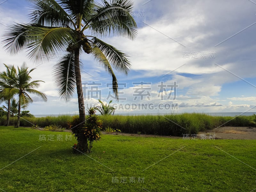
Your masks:
{"label": "blue sky with white clouds above the sea horizon", "polygon": [[[0,0],[1,38],[13,22],[28,23],[29,6],[24,0]],[[98,106],[100,99],[113,100],[116,114],[256,111],[256,1],[136,0],[132,15],[138,25],[135,40],[100,37],[130,56],[128,76],[115,71],[119,101],[109,86],[111,76],[84,53],[85,107]],[[45,82],[38,90],[48,101],[32,95],[26,108],[34,115],[78,114],[76,92],[66,103],[54,86],[57,61],[35,64],[25,51],[11,56],[0,44],[0,71],[3,63],[26,62],[36,67],[33,80]]]}

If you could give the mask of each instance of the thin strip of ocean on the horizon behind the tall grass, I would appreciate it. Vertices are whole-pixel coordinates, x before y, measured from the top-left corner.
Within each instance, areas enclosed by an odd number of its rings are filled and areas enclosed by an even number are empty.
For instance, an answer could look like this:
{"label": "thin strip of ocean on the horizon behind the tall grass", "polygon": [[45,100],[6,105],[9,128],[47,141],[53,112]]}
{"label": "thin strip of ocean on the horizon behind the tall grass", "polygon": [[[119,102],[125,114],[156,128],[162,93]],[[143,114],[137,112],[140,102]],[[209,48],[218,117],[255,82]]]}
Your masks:
{"label": "thin strip of ocean on the horizon behind the tall grass", "polygon": [[[175,114],[181,114],[181,113],[175,113]],[[256,112],[226,112],[226,113],[201,113],[201,114],[207,114],[210,116],[252,116],[253,114],[256,114]],[[74,116],[77,114],[59,114],[59,115],[34,115],[35,117],[46,117],[46,116],[60,116],[60,115],[68,115],[68,116]],[[158,113],[115,113],[114,115],[123,115],[123,116],[136,116],[136,115],[158,115]],[[160,113],[159,115],[168,115],[167,113]]]}

